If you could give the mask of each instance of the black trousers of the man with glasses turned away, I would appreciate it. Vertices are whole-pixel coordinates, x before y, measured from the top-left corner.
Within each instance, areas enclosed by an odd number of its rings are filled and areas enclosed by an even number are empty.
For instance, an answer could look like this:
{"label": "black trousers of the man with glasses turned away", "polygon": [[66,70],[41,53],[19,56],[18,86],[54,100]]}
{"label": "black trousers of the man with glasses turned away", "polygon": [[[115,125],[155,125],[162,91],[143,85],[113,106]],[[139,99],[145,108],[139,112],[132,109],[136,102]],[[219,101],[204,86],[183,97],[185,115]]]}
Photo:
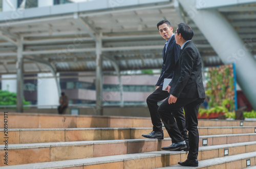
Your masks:
{"label": "black trousers of the man with glasses turned away", "polygon": [[188,131],[189,152],[188,159],[197,159],[199,148],[199,133],[197,114],[199,106],[204,99],[195,98],[178,98],[176,103],[168,104],[166,99],[158,108],[158,112],[163,120],[163,124],[173,142],[183,141],[182,134],[175,122],[175,114],[181,107],[185,110],[186,129]]}

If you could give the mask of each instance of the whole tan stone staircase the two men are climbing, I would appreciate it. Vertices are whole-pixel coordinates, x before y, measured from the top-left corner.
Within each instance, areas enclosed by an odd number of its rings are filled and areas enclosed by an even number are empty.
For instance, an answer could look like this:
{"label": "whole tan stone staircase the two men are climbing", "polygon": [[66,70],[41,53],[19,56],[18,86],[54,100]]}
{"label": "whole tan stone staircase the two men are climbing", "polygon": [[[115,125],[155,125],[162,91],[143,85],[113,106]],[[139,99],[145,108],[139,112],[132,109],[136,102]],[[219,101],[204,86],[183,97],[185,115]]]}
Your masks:
{"label": "whole tan stone staircase the two men are climbing", "polygon": [[[253,168],[255,126],[199,120],[200,161],[191,168]],[[4,125],[0,127],[4,140]],[[145,117],[8,113],[8,151],[1,141],[0,168],[189,168],[177,165],[187,152],[161,151],[171,144],[165,129],[164,140],[141,137],[151,131],[151,119]]]}

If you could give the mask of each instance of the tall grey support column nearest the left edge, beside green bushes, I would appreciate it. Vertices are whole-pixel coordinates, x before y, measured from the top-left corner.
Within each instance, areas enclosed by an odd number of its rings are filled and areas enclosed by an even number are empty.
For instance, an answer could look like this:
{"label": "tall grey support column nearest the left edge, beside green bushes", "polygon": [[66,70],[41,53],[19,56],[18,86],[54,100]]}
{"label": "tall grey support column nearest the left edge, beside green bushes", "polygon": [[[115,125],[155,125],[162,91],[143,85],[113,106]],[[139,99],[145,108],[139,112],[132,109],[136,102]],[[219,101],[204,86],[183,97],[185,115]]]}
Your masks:
{"label": "tall grey support column nearest the left edge, beside green bushes", "polygon": [[17,49],[17,112],[23,112],[23,97],[24,97],[24,90],[23,90],[23,38],[17,40],[18,49]]}

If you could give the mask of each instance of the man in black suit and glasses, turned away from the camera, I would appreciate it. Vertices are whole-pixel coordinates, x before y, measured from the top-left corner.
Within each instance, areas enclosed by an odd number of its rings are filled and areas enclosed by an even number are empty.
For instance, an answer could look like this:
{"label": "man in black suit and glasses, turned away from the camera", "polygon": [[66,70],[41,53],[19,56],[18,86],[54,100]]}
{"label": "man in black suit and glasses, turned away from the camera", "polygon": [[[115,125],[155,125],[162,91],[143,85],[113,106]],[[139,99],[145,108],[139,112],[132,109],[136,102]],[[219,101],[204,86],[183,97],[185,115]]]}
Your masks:
{"label": "man in black suit and glasses, turned away from the camera", "polygon": [[[202,81],[201,56],[196,45],[191,42],[194,31],[185,23],[180,23],[175,32],[176,43],[181,45],[179,59],[175,65],[174,78],[168,86],[169,97],[158,108],[166,130],[172,138],[173,144],[162,150],[175,151],[186,148],[186,143],[174,116],[176,110],[184,107],[186,129],[188,130],[189,152],[187,160],[178,162],[183,166],[198,166],[198,119],[199,106],[205,99]],[[172,113],[170,113],[172,112]]]}

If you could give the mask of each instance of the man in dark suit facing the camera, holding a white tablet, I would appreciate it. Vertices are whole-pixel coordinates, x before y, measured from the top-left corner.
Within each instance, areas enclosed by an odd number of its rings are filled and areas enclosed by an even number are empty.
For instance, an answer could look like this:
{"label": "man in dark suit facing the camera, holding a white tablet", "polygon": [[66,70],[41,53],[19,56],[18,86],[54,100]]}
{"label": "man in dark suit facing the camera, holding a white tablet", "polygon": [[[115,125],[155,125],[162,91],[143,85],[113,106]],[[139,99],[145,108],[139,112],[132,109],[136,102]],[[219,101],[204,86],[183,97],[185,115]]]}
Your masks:
{"label": "man in dark suit facing the camera, holding a white tablet", "polygon": [[[160,22],[158,22],[157,28],[159,30],[160,35],[166,40],[165,46],[163,49],[163,64],[162,64],[160,77],[156,84],[156,90],[150,96],[148,96],[146,100],[148,109],[150,110],[151,120],[153,124],[153,131],[150,134],[143,134],[142,136],[146,138],[163,139],[162,122],[157,112],[157,109],[158,109],[157,103],[166,99],[169,95],[167,91],[162,90],[163,81],[165,78],[168,78],[168,79],[173,78],[174,67],[179,58],[180,45],[178,45],[175,41],[173,28],[170,26],[170,22],[168,20],[161,20]],[[185,126],[185,117],[184,117],[182,108],[177,109],[174,116],[176,118],[179,130],[184,140],[186,140],[188,144],[188,136],[187,136],[187,130]],[[188,149],[186,151],[188,151]]]}

